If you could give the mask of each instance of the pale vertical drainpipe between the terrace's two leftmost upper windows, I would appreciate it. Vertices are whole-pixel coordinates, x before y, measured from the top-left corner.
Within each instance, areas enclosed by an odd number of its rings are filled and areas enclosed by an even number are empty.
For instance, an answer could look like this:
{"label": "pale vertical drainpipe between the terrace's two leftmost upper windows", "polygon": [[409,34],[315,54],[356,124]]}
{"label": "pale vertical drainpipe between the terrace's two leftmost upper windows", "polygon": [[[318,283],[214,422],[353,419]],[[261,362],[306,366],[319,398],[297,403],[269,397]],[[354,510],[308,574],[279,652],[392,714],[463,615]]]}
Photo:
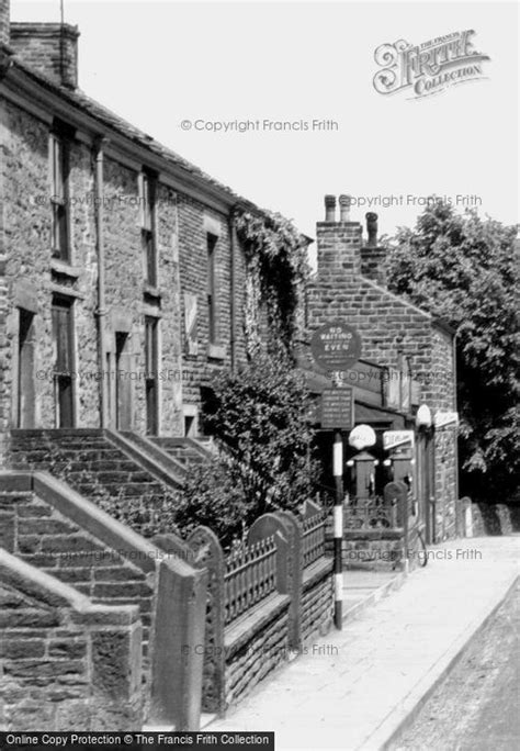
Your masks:
{"label": "pale vertical drainpipe between the terrace's two leftmost upper windows", "polygon": [[[104,266],[104,212],[103,212],[103,146],[106,138],[100,136],[94,142],[94,213],[95,213],[95,250],[98,255],[98,341],[99,341],[99,369],[100,369],[100,427],[108,427],[109,416],[109,379],[105,378],[106,369],[106,332],[105,332],[105,266]],[[108,373],[106,373],[108,375]]]}

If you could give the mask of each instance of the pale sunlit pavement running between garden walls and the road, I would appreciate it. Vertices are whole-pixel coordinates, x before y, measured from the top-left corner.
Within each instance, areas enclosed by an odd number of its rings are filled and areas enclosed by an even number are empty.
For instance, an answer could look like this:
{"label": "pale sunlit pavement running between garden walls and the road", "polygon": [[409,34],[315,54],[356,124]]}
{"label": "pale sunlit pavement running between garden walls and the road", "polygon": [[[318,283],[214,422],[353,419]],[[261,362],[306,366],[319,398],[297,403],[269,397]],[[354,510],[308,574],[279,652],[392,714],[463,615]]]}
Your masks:
{"label": "pale sunlit pavement running between garden walls and the road", "polygon": [[371,607],[358,603],[341,631],[308,644],[204,730],[274,730],[276,751],[384,749],[499,607],[519,560],[519,536],[431,547],[428,565],[399,590],[378,598],[395,583],[375,587]]}

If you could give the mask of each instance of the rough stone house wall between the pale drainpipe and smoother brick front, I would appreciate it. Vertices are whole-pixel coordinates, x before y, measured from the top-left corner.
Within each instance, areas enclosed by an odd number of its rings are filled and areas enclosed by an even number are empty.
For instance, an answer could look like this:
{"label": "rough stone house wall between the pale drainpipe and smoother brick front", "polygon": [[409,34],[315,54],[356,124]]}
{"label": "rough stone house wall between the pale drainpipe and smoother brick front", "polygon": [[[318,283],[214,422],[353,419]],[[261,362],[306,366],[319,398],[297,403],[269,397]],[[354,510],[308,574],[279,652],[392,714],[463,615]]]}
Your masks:
{"label": "rough stone house wall between the pale drainpipe and smoother brick front", "polygon": [[[158,183],[156,188],[157,290],[150,301],[144,279],[142,248],[142,199],[139,176],[113,159],[104,164],[104,232],[108,339],[115,347],[117,318],[131,325],[128,374],[132,390],[133,429],[146,431],[145,315],[159,323],[160,431],[181,430],[180,300],[177,257],[178,217],[176,193]],[[157,304],[155,292],[160,295]]]}

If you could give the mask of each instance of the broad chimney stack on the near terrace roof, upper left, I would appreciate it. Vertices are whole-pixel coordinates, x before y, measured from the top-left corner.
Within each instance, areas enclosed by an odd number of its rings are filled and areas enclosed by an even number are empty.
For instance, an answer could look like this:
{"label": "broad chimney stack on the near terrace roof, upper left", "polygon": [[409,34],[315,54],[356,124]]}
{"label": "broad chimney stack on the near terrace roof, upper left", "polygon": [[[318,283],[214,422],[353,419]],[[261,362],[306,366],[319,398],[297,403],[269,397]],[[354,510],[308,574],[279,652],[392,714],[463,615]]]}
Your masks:
{"label": "broad chimney stack on the near terrace roof, upper left", "polygon": [[22,63],[71,89],[78,86],[78,26],[68,23],[11,24],[11,46]]}

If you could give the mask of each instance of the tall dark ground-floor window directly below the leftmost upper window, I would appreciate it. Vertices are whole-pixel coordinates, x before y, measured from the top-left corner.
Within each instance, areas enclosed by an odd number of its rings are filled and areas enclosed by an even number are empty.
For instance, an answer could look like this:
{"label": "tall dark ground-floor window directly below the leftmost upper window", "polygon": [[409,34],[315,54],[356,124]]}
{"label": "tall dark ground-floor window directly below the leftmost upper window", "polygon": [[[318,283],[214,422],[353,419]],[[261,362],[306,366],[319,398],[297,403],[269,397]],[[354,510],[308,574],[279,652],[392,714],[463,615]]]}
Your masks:
{"label": "tall dark ground-floor window directly below the leftmost upper window", "polygon": [[54,404],[56,427],[74,427],[72,306],[55,299],[53,315]]}

